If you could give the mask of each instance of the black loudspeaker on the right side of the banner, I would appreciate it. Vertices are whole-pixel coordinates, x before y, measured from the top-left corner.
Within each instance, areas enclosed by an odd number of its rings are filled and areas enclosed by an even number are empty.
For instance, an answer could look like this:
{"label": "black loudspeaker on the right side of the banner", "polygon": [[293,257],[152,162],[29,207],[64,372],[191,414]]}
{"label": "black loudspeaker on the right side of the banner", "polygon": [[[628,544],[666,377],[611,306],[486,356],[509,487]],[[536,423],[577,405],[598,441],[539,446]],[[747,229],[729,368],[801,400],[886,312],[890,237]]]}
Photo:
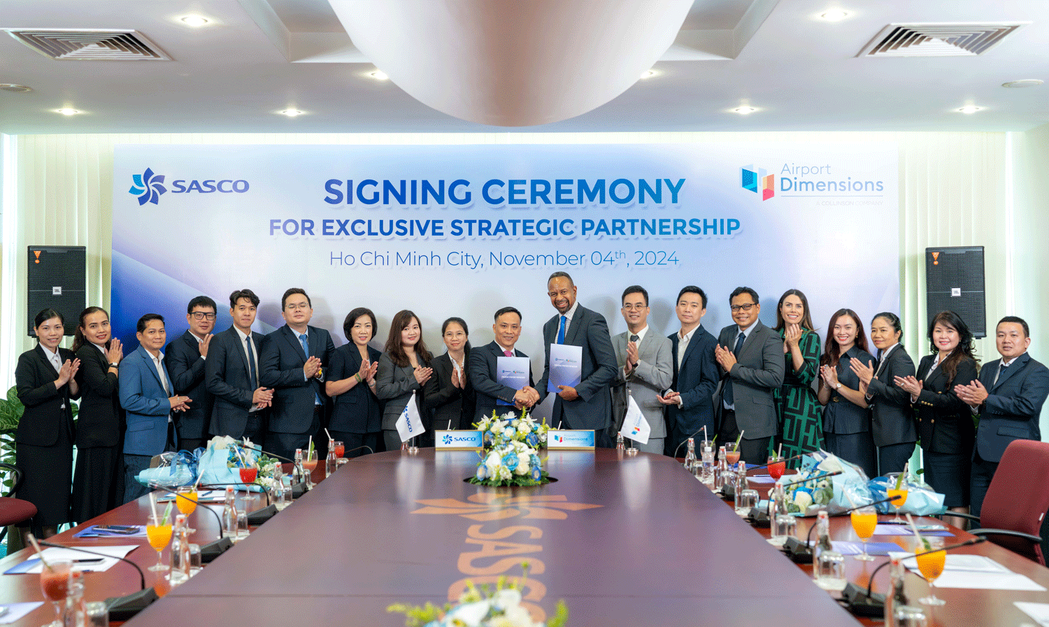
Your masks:
{"label": "black loudspeaker on the right side of the banner", "polygon": [[976,338],[987,337],[983,246],[925,248],[928,323],[945,309],[962,317]]}

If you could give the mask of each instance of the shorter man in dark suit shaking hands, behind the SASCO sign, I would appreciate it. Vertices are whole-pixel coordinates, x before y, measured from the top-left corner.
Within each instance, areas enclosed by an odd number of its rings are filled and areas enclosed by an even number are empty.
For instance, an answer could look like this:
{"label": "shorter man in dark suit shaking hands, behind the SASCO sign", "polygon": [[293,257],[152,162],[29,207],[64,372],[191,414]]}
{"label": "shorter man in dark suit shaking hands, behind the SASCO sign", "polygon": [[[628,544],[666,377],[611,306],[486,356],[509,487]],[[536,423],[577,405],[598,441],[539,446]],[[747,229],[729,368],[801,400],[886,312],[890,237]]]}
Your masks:
{"label": "shorter man in dark suit shaking hands, behind the SASCO sign", "polygon": [[[490,344],[470,351],[470,363],[467,365],[470,384],[477,394],[477,410],[474,423],[486,416],[507,412],[514,407],[532,407],[539,399],[539,393],[532,387],[532,366],[529,364],[528,385],[514,389],[498,381],[496,366],[499,358],[528,358],[527,354],[514,348],[521,336],[521,312],[514,307],[502,307],[495,312],[495,324],[492,325],[495,340]],[[502,401],[504,405],[498,402]]]}

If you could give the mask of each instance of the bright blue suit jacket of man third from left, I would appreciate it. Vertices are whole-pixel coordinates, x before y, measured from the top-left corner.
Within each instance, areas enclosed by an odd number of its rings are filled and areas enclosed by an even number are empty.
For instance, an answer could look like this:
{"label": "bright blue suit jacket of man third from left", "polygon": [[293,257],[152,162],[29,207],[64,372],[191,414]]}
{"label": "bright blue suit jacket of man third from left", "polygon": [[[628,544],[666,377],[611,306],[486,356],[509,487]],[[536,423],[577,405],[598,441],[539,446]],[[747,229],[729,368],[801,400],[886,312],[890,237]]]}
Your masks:
{"label": "bright blue suit jacket of man third from left", "polygon": [[[168,385],[172,386],[170,373],[165,373],[168,374]],[[142,346],[121,361],[120,394],[121,407],[127,412],[124,453],[128,455],[163,453],[168,442],[168,415],[171,413],[171,403],[160,383],[160,375],[153,366],[153,359]],[[174,395],[173,387],[172,395]]]}

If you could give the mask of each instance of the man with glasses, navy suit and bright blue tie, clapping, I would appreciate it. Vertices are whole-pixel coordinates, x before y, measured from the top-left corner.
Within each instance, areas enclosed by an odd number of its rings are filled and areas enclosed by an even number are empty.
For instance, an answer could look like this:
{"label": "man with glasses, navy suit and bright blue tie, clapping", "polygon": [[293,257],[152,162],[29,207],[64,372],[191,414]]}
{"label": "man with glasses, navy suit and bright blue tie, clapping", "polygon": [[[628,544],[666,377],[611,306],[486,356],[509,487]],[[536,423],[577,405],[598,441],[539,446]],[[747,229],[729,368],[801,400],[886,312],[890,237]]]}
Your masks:
{"label": "man with glasses, navy suit and bright blue tie, clapping", "polygon": [[[292,457],[317,441],[324,426],[324,368],[335,350],[331,336],[309,326],[314,309],[305,290],[292,287],[280,301],[285,324],[266,336],[261,346],[262,385],[274,388],[265,449]],[[318,458],[327,440],[317,442]]]}

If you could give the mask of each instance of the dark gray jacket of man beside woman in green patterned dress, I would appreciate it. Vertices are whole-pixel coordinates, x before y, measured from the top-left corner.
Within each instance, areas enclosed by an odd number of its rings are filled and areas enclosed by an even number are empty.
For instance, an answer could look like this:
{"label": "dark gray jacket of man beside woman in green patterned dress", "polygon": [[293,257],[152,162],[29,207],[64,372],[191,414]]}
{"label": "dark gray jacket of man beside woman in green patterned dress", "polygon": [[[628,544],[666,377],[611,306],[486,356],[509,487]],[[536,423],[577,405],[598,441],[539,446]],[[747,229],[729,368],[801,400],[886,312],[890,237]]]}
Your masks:
{"label": "dark gray jacket of man beside woman in green patterned dress", "polygon": [[[740,327],[734,324],[723,328],[718,334],[718,344],[731,349],[735,345]],[[747,332],[747,340],[740,349],[740,356],[731,372],[722,372],[722,385],[714,394],[714,411],[719,415],[725,410],[722,394],[725,380],[732,377],[732,395],[735,399],[735,423],[747,432],[747,439],[769,437],[776,434],[776,407],[772,401],[772,390],[784,383],[784,340],[779,333],[762,324],[758,320]]]}

